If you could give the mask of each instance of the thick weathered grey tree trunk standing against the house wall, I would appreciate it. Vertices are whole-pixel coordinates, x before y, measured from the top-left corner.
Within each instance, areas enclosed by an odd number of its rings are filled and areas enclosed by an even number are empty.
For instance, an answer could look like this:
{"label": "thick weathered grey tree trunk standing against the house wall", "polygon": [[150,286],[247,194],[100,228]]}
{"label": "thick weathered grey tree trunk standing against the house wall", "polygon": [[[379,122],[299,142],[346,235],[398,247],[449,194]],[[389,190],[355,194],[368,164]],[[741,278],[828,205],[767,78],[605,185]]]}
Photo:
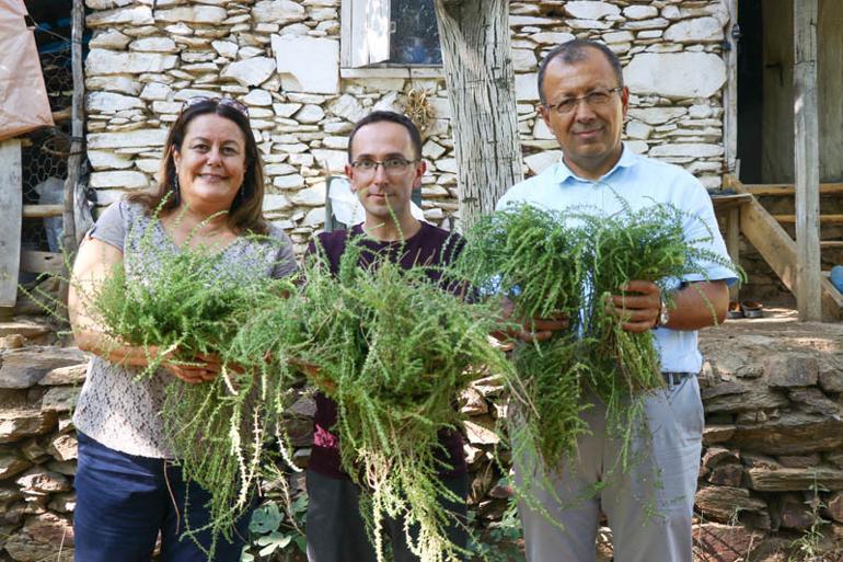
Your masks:
{"label": "thick weathered grey tree trunk standing against the house wall", "polygon": [[523,179],[507,0],[436,0],[463,229]]}

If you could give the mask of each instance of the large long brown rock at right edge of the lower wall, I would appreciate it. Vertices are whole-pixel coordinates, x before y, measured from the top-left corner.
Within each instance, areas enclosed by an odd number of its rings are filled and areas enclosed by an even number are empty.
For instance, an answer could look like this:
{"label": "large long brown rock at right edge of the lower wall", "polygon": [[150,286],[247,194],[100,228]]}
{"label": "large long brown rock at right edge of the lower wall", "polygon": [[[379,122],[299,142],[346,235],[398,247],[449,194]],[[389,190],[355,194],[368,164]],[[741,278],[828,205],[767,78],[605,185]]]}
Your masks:
{"label": "large long brown rock at right edge of the lower wall", "polygon": [[[741,451],[805,455],[843,447],[843,422],[816,414],[787,412],[776,420],[738,424],[730,445]],[[743,455],[746,459],[746,454]]]}

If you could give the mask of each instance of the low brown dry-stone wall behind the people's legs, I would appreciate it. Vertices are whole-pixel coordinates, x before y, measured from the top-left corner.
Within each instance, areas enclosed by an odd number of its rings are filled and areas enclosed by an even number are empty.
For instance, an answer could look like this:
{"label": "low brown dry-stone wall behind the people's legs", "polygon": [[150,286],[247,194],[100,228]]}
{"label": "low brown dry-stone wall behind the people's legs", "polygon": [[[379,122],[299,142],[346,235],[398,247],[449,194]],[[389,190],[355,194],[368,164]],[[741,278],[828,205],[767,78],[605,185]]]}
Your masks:
{"label": "low brown dry-stone wall behind the people's legs", "polygon": [[[69,409],[84,378],[81,354],[48,346],[49,329],[0,323],[0,562],[72,559],[76,437]],[[697,562],[784,562],[817,524],[825,562],[843,560],[843,325],[729,323],[701,334],[706,410],[694,527]],[[493,460],[505,408],[494,379],[462,399],[476,520],[500,519],[508,491]],[[305,467],[313,404],[289,421]],[[292,488],[303,490],[301,474]],[[816,503],[815,490],[819,490]],[[816,505],[816,509],[811,509]],[[611,534],[598,546],[609,560]],[[797,558],[796,560],[802,560]],[[815,562],[818,562],[815,560]]]}

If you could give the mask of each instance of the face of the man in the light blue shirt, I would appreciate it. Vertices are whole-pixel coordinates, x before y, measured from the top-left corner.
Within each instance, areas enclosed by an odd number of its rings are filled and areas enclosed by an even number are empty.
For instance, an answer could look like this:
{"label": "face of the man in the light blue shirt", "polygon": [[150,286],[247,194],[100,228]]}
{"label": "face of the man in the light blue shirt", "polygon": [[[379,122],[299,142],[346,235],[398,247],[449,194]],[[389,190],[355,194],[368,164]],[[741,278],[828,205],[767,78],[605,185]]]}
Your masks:
{"label": "face of the man in the light blue shirt", "polygon": [[[546,105],[539,111],[559,141],[568,167],[578,175],[596,180],[621,157],[630,93],[626,88],[611,92],[619,84],[609,60],[594,48],[586,48],[586,58],[578,62],[555,58],[547,65],[543,84]],[[610,92],[605,103],[581,100],[575,102],[569,113],[552,108],[563,100],[607,91]]]}

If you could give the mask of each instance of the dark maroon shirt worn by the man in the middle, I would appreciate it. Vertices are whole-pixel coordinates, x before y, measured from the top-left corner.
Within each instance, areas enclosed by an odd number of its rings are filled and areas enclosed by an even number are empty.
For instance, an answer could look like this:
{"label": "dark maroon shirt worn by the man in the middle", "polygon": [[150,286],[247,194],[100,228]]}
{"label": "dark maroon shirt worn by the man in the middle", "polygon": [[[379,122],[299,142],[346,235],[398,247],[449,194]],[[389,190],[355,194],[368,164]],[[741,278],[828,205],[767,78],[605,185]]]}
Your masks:
{"label": "dark maroon shirt worn by the man in the middle", "polygon": [[[345,252],[348,237],[365,237],[361,226],[351,230],[339,230],[320,234],[319,243],[330,263],[332,273],[339,268],[339,259]],[[438,266],[451,263],[463,248],[463,239],[447,230],[422,222],[422,229],[415,236],[402,242],[381,242],[371,238],[363,239],[363,245],[368,251],[360,255],[360,266],[370,264],[374,255],[385,255],[392,262],[399,263],[403,268],[409,269],[417,265]],[[308,253],[316,251],[311,242]],[[370,253],[371,252],[371,253]],[[435,283],[441,283],[441,273],[431,267],[427,269],[428,277]],[[459,286],[443,286],[444,290],[460,294]],[[455,399],[457,397],[454,397]],[[331,432],[337,422],[337,404],[322,392],[315,397],[316,414],[313,420],[313,448],[311,450],[309,469],[320,474],[347,479],[340,466],[339,438]],[[439,472],[441,478],[457,478],[465,473],[465,455],[463,440],[459,432],[441,429],[439,432],[439,445],[435,451],[437,460],[452,467],[450,470]]]}

